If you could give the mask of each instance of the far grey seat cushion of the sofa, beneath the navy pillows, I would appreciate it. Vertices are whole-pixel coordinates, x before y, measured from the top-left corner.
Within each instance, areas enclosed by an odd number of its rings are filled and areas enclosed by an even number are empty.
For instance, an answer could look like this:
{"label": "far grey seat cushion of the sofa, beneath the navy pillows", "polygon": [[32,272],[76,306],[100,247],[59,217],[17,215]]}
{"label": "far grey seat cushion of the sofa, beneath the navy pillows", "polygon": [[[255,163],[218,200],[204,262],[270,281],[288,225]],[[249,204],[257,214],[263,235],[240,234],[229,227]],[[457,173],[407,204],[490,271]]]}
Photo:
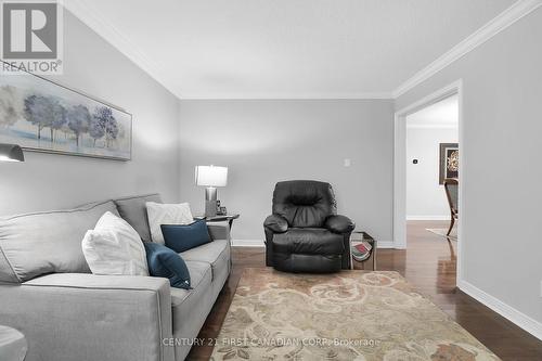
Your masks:
{"label": "far grey seat cushion of the sofa, beneath the navy pillows", "polygon": [[230,243],[227,240],[217,240],[203,246],[180,253],[185,261],[199,261],[210,265],[212,280],[222,268],[228,269],[230,261]]}

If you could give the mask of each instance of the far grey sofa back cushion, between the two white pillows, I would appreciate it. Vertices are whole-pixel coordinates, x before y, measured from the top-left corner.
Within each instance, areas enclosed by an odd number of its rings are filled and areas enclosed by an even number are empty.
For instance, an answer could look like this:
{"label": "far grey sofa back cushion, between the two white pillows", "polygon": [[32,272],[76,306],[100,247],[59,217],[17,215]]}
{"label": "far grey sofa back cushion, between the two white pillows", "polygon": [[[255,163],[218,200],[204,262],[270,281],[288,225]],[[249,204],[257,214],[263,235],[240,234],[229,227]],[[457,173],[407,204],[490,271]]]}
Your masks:
{"label": "far grey sofa back cushion, between the two white pillows", "polygon": [[114,199],[118,214],[139,233],[141,240],[151,242],[151,230],[146,218],[147,202],[162,203],[159,194],[146,194]]}

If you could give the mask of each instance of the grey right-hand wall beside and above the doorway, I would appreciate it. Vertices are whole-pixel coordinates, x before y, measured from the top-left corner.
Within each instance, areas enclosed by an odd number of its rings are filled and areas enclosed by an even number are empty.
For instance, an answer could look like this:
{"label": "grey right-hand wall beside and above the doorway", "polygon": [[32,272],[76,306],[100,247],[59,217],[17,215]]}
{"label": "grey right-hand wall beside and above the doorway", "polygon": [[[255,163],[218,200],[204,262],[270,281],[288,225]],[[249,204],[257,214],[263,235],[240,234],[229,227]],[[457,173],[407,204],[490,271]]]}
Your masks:
{"label": "grey right-hand wall beside and above the doorway", "polygon": [[464,81],[464,280],[542,322],[542,9],[417,86]]}

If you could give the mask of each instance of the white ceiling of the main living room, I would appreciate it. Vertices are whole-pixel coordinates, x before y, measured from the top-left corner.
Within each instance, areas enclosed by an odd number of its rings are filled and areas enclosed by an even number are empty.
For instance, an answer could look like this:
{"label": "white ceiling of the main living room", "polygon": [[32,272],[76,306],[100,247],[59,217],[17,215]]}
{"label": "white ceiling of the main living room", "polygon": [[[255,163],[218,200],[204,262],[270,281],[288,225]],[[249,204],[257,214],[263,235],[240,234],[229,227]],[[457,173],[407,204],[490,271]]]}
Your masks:
{"label": "white ceiling of the main living room", "polygon": [[181,99],[386,98],[515,0],[68,0]]}

